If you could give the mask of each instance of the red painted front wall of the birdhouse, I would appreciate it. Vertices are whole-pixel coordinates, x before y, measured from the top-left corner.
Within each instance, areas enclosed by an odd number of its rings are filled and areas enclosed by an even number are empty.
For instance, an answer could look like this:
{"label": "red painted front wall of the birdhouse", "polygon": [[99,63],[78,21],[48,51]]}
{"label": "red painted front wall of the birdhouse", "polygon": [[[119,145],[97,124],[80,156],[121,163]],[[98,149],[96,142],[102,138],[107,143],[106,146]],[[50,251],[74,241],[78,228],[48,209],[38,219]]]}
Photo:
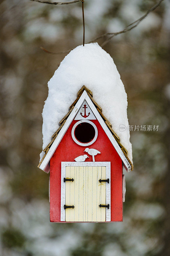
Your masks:
{"label": "red painted front wall of the birdhouse", "polygon": [[[50,160],[50,221],[52,222],[60,222],[61,162],[74,162],[75,157],[87,154],[83,152],[85,148],[95,148],[101,152],[95,156],[96,162],[111,162],[111,221],[123,220],[122,160],[98,120],[91,121],[98,129],[98,137],[92,145],[82,147],[74,142],[71,137],[72,127],[77,122],[74,120]],[[86,162],[92,161],[92,156],[86,159]]]}

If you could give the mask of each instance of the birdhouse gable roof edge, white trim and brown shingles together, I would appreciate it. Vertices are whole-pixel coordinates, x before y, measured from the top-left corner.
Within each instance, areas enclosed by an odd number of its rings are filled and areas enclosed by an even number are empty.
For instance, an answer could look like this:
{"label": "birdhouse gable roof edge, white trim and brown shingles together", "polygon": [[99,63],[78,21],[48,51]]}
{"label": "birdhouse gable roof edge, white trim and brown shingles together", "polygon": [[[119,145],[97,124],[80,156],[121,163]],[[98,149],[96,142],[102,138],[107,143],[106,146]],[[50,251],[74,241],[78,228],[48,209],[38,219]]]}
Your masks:
{"label": "birdhouse gable roof edge, white trim and brown shingles together", "polygon": [[[84,92],[85,91],[85,92]],[[59,129],[52,135],[51,142],[47,145],[47,147],[43,150],[45,153],[42,157],[38,167],[44,171],[49,171],[48,163],[53,156],[53,153],[55,152],[56,148],[58,147],[60,141],[62,140],[65,132],[67,131],[69,125],[73,121],[74,117],[76,116],[79,108],[81,107],[82,102],[86,100],[92,109],[93,113],[96,117],[98,117],[98,121],[102,125],[103,130],[106,132],[108,138],[110,139],[112,145],[116,149],[118,155],[121,157],[125,168],[128,171],[133,170],[133,164],[131,163],[130,159],[127,156],[127,150],[124,148],[124,146],[120,143],[120,139],[117,136],[117,134],[113,131],[111,128],[110,122],[107,120],[107,118],[102,113],[102,108],[96,103],[95,100],[93,100],[93,94],[92,92],[86,87],[82,86],[82,88],[77,93],[77,99],[73,102],[73,104],[70,106],[70,110],[67,113],[66,116],[64,116],[61,121],[59,122],[61,125]],[[95,113],[96,112],[96,113]],[[67,121],[67,122],[66,122]],[[58,136],[60,134],[60,136]]]}

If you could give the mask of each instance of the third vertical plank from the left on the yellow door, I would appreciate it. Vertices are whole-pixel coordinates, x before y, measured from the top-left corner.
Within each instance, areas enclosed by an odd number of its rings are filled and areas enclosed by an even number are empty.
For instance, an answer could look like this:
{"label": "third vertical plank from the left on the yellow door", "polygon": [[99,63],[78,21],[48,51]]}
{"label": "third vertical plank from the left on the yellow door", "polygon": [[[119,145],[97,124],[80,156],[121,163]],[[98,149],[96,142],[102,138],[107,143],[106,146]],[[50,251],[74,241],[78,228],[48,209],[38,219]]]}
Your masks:
{"label": "third vertical plank from the left on the yellow door", "polygon": [[74,168],[74,221],[79,221],[79,167],[75,166]]}

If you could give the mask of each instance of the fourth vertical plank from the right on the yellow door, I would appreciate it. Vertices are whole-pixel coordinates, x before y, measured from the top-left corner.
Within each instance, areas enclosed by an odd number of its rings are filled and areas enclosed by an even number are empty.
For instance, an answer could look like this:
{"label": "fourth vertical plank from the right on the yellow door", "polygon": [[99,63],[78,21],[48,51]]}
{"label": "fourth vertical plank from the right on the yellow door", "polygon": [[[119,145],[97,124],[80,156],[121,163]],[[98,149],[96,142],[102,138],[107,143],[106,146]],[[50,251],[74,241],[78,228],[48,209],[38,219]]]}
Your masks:
{"label": "fourth vertical plank from the right on the yellow door", "polygon": [[87,221],[92,221],[93,168],[90,166],[87,168],[88,168],[88,220]]}

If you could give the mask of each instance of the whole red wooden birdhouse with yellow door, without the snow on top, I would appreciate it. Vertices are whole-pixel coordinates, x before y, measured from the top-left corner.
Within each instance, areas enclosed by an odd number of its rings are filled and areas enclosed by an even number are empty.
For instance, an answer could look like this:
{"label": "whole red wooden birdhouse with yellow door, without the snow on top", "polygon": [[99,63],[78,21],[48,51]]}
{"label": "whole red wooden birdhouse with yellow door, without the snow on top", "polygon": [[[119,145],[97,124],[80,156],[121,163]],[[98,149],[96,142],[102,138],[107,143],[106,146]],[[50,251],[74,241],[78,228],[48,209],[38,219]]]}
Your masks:
{"label": "whole red wooden birdhouse with yellow door, without the snow on top", "polygon": [[50,221],[122,221],[123,168],[133,164],[85,86],[60,124],[38,165],[50,169]]}

